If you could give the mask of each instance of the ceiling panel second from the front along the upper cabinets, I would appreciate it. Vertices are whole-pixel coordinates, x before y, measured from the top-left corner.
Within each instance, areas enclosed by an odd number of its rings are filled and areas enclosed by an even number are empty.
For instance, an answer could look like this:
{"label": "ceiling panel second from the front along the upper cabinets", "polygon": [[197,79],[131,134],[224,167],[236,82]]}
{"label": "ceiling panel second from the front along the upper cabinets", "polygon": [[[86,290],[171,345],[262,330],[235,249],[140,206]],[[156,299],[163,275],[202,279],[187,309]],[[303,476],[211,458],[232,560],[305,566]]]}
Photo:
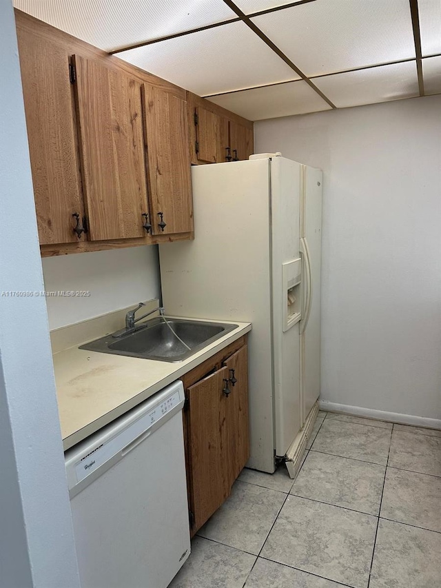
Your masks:
{"label": "ceiling panel second from the front along the upper cabinets", "polygon": [[298,79],[243,22],[159,41],[118,57],[200,95]]}

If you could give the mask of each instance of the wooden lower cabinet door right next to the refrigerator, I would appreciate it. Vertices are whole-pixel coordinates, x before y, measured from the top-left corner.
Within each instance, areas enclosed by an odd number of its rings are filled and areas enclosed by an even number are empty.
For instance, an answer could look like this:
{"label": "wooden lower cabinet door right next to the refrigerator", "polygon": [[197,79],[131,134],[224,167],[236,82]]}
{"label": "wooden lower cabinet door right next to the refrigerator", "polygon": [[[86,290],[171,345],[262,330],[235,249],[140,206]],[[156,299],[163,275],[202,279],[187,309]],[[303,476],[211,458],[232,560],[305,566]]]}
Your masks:
{"label": "wooden lower cabinet door right next to the refrigerator", "polygon": [[226,409],[226,447],[229,461],[229,483],[242,471],[249,458],[249,424],[248,424],[248,347],[240,347],[223,365],[227,368],[231,391]]}

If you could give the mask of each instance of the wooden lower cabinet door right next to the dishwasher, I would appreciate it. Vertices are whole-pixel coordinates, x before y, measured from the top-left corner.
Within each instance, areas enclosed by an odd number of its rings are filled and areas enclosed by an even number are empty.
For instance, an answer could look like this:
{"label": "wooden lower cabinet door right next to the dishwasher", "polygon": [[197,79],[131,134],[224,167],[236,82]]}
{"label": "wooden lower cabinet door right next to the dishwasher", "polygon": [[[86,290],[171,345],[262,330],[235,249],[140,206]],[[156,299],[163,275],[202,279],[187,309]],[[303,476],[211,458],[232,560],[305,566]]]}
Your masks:
{"label": "wooden lower cabinet door right next to the dishwasher", "polygon": [[223,392],[227,367],[188,388],[189,472],[191,472],[194,531],[225,502],[231,491],[225,432],[229,401]]}

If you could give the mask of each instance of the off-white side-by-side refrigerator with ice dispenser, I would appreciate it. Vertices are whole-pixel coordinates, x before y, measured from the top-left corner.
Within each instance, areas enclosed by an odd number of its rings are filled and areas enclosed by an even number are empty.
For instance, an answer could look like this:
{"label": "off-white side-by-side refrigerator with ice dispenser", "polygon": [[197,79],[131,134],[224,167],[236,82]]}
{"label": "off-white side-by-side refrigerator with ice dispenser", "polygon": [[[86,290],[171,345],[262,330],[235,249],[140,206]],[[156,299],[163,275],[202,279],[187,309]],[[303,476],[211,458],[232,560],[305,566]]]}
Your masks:
{"label": "off-white side-by-side refrigerator with ice dispenser", "polygon": [[280,154],[192,168],[194,241],[159,245],[167,314],[249,321],[248,467],[300,465],[320,394],[322,172]]}

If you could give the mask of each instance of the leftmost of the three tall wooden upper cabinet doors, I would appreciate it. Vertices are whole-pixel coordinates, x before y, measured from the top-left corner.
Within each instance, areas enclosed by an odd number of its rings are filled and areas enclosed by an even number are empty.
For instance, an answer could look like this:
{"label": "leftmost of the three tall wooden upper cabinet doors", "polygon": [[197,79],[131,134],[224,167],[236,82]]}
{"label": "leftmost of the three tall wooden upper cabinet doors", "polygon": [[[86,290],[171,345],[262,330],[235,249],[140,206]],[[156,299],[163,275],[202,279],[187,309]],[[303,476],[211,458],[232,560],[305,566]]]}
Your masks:
{"label": "leftmost of the three tall wooden upper cabinet doors", "polygon": [[68,53],[21,27],[17,37],[40,244],[72,243],[83,197]]}

